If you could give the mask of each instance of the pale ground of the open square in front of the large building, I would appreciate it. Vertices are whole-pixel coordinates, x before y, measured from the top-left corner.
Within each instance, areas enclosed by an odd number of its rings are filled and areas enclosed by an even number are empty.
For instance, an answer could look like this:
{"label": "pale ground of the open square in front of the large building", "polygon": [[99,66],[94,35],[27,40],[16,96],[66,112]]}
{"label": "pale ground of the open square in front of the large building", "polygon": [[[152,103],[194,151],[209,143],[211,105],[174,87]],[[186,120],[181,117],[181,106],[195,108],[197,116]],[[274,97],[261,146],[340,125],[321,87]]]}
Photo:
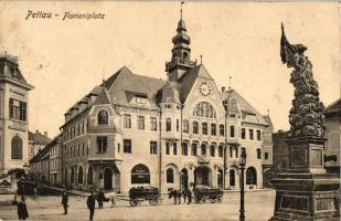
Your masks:
{"label": "pale ground of the open square in front of the large building", "polygon": [[[246,220],[266,221],[274,212],[275,191],[246,192]],[[15,220],[17,207],[3,206],[12,196],[1,196],[0,218]],[[173,206],[167,196],[162,196],[162,203],[157,207],[143,202],[131,208],[128,201],[118,201],[115,208],[110,202],[103,210],[95,210],[95,220],[238,220],[239,192],[227,192],[222,203],[192,203]],[[68,214],[63,215],[61,197],[40,197],[26,201],[30,220],[88,220],[86,198],[70,197]],[[49,209],[49,210],[47,210]]]}

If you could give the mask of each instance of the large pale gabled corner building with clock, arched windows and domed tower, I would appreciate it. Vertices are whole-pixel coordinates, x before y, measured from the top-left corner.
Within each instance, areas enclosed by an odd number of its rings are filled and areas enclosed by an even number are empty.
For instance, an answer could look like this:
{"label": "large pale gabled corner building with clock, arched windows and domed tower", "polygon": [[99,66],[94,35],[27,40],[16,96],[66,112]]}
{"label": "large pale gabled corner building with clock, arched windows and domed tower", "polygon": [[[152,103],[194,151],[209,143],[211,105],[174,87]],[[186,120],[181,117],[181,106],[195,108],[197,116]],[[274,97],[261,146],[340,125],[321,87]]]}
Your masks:
{"label": "large pale gabled corner building with clock, arched windows and domed tower", "polygon": [[191,60],[184,21],[172,39],[168,81],[120,69],[65,113],[63,182],[128,192],[134,186],[263,188],[265,118],[237,92],[219,91]]}

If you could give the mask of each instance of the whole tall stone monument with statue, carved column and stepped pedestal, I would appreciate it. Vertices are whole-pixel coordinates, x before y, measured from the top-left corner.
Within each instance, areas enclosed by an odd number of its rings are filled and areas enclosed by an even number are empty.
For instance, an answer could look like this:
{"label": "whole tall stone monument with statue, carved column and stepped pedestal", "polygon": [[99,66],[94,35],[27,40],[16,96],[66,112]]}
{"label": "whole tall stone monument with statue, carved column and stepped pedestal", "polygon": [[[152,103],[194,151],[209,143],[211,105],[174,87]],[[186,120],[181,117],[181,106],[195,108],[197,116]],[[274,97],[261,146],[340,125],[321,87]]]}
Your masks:
{"label": "whole tall stone monument with statue, carved column and stepped pedestal", "polygon": [[289,169],[271,180],[276,188],[275,212],[270,221],[340,220],[340,179],[323,168],[324,116],[312,64],[302,44],[290,44],[281,25],[280,56],[294,67],[290,83],[295,97],[289,114]]}

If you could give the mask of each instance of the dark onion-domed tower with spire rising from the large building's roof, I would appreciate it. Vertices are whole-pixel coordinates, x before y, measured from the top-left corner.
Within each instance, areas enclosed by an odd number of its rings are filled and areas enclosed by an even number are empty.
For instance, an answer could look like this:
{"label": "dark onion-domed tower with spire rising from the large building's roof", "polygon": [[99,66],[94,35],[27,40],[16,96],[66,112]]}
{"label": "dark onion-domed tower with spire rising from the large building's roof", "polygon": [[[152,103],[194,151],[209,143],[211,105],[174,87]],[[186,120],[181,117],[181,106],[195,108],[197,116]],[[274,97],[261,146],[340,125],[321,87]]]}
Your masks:
{"label": "dark onion-domed tower with spire rising from the large building's roof", "polygon": [[184,72],[195,66],[196,62],[191,61],[191,39],[187,34],[185,23],[181,18],[178,22],[177,35],[173,36],[172,59],[166,63],[166,72],[170,82],[177,82]]}

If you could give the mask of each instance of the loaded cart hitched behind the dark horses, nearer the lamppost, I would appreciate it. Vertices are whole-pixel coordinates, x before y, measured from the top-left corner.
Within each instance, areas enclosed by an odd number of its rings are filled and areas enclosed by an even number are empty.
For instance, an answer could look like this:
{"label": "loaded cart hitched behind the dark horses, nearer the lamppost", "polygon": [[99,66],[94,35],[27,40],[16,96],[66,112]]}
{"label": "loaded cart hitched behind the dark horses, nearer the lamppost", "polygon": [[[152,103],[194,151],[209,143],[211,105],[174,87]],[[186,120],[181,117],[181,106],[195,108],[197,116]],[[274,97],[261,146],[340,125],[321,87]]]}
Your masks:
{"label": "loaded cart hitched behind the dark horses, nearer the lamppost", "polygon": [[212,187],[196,187],[194,188],[194,202],[222,202],[223,201],[223,190],[220,188]]}

